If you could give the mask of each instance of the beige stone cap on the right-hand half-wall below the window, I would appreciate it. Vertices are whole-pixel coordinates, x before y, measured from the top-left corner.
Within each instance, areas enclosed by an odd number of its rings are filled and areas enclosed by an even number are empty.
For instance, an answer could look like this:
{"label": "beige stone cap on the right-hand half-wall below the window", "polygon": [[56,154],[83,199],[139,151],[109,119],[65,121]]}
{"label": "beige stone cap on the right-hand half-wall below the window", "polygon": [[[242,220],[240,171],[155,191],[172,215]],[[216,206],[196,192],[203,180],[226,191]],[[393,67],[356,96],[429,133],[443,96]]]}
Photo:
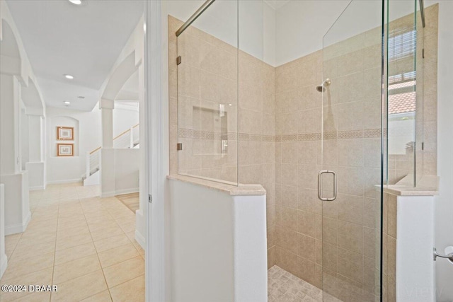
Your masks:
{"label": "beige stone cap on the right-hand half-wall below the window", "polygon": [[[379,190],[380,185],[376,185]],[[395,185],[384,185],[384,192],[398,196],[437,196],[439,195],[439,176],[423,175],[417,186],[413,187],[413,174],[396,182]]]}

